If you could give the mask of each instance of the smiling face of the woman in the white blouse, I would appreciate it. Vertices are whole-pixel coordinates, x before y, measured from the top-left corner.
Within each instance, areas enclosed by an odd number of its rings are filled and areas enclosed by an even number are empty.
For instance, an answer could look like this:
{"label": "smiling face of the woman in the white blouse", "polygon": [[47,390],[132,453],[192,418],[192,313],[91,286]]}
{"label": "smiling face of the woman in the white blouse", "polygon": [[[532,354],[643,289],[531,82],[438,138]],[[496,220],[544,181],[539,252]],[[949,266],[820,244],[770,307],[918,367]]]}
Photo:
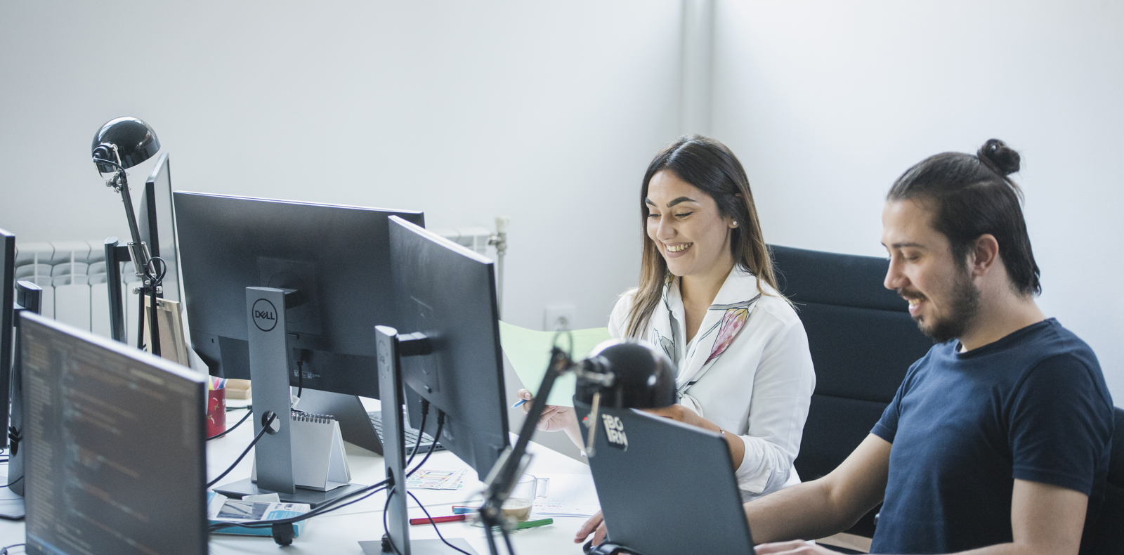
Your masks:
{"label": "smiling face of the woman in the white blouse", "polygon": [[733,267],[729,231],[736,226],[709,194],[665,170],[652,175],[644,204],[647,236],[672,274],[728,273]]}

